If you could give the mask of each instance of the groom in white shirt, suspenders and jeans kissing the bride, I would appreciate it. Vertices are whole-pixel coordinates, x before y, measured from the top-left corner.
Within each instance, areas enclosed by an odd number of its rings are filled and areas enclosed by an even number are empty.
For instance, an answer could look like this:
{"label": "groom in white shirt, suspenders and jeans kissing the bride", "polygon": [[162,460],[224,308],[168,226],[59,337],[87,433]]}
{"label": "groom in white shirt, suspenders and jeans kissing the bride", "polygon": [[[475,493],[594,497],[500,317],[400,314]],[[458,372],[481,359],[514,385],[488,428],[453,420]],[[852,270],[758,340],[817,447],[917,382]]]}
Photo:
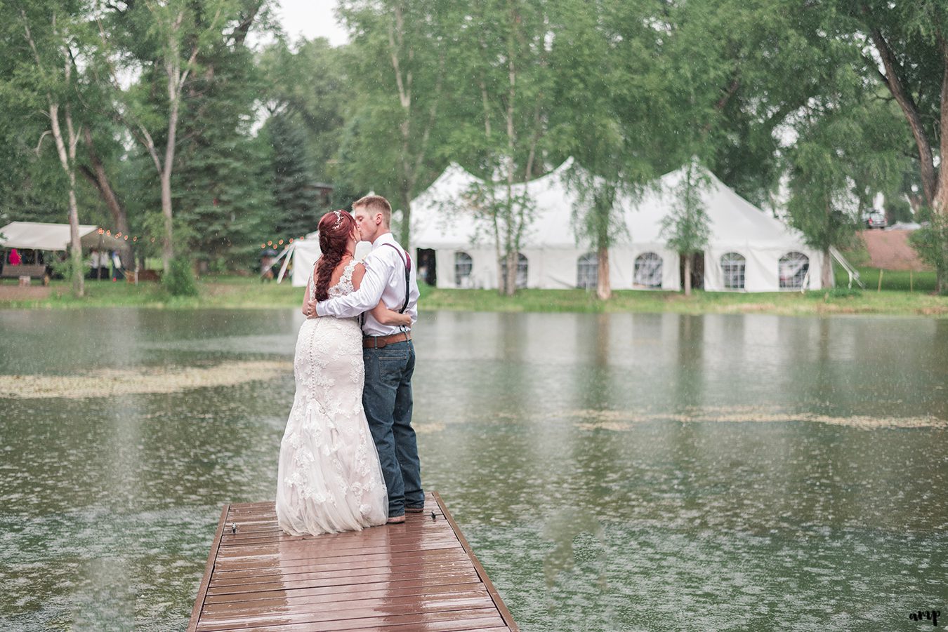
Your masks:
{"label": "groom in white shirt, suspenders and jeans kissing the bride", "polygon": [[405,521],[405,512],[421,513],[425,506],[418,446],[411,428],[414,346],[410,328],[382,325],[368,312],[384,300],[391,309],[411,316],[414,323],[418,319],[418,282],[410,256],[392,237],[389,201],[366,195],[353,203],[353,215],[362,241],[372,243],[372,252],[363,262],[365,277],[352,294],[310,301],[309,314],[362,315],[362,406],[389,490],[389,523],[399,523]]}

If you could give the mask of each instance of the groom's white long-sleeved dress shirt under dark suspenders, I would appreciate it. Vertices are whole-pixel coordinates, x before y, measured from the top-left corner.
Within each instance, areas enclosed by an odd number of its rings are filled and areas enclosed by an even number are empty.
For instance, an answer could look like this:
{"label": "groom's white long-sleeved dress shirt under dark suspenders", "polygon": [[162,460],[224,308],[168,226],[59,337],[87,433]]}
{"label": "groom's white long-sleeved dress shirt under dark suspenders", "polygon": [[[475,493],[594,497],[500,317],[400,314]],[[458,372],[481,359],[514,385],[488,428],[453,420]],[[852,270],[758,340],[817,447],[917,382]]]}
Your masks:
{"label": "groom's white long-sleeved dress shirt under dark suspenders", "polygon": [[[392,244],[398,248],[383,246],[382,244]],[[405,302],[405,250],[395,242],[392,233],[385,233],[375,238],[372,243],[372,251],[366,255],[363,264],[365,265],[365,276],[362,277],[362,283],[352,294],[344,297],[330,298],[320,300],[316,304],[316,313],[318,316],[336,316],[337,318],[349,318],[367,313],[378,304],[379,300],[385,302],[390,309],[398,311]],[[411,276],[409,280],[409,304],[405,308],[405,314],[411,316],[411,323],[418,320],[418,280],[415,276],[415,265],[411,262]],[[396,325],[383,325],[374,319],[371,314],[365,315],[365,322],[362,324],[362,334],[365,335],[391,335],[403,332],[407,327],[398,327]]]}

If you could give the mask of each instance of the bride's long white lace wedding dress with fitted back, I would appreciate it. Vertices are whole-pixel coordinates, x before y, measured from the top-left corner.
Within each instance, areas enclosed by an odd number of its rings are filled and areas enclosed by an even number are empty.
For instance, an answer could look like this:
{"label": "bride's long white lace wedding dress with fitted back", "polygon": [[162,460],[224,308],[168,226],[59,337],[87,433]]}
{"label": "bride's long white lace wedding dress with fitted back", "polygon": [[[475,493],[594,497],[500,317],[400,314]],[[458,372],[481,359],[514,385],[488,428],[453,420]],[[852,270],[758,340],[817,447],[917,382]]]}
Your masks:
{"label": "bride's long white lace wedding dress with fitted back", "polygon": [[[354,291],[350,262],[329,296]],[[312,298],[312,278],[306,285]],[[362,408],[365,367],[357,318],[307,318],[293,361],[296,396],[280,445],[277,520],[286,533],[385,524],[389,501]]]}

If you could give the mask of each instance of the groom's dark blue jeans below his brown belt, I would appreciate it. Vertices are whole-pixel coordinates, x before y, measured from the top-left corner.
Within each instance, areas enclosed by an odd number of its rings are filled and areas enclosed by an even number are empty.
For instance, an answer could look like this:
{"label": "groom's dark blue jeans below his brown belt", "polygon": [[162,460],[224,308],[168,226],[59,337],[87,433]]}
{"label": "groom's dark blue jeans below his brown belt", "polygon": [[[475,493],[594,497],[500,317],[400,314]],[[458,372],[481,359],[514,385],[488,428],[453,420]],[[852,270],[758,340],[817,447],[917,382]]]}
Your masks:
{"label": "groom's dark blue jeans below his brown belt", "polygon": [[382,476],[389,488],[389,517],[404,515],[405,507],[423,507],[421,461],[411,428],[411,374],[414,372],[414,346],[410,340],[382,349],[363,349],[365,388],[362,406]]}

